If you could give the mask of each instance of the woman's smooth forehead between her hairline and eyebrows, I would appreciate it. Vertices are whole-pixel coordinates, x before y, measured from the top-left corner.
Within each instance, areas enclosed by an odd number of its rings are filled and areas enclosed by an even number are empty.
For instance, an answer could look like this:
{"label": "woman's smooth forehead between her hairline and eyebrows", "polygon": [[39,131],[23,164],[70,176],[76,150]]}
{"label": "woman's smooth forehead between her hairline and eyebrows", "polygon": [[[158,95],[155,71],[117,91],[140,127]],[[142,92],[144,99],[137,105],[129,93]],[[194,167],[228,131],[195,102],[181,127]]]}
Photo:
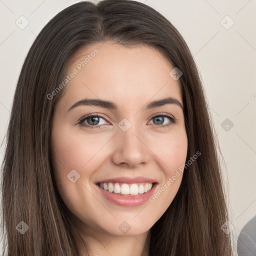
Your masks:
{"label": "woman's smooth forehead between her hairline and eyebrows", "polygon": [[75,72],[65,88],[72,100],[107,98],[121,106],[172,96],[182,103],[178,81],[169,75],[173,67],[155,48],[95,43],[81,47],[67,64],[66,74]]}

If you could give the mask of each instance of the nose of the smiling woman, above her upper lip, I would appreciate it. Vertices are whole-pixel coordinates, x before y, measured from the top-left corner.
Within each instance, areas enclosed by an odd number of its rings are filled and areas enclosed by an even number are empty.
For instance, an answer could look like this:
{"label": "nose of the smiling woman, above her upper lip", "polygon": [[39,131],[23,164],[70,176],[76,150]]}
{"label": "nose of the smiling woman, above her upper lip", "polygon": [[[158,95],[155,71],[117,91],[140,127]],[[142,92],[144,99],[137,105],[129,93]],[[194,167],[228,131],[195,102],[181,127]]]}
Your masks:
{"label": "nose of the smiling woman, above her upper lip", "polygon": [[113,143],[112,160],[115,164],[134,168],[136,165],[146,164],[150,159],[151,151],[138,125],[132,124],[126,131],[118,129]]}

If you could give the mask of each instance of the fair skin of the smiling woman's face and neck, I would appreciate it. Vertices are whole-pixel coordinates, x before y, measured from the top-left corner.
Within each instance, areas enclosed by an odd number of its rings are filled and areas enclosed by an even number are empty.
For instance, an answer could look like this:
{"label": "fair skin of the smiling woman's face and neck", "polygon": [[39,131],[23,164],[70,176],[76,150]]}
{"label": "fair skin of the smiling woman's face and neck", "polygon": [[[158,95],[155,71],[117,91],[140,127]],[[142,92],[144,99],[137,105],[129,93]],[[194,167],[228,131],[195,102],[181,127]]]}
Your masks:
{"label": "fair skin of the smiling woman's face and neck", "polygon": [[[110,41],[87,45],[71,56],[67,74],[95,48],[99,52],[69,81],[54,108],[51,153],[57,188],[88,242],[90,255],[148,255],[146,236],[171,204],[182,172],[155,201],[136,207],[108,201],[95,183],[117,176],[145,176],[157,181],[157,191],[172,177],[187,153],[182,108],[166,104],[145,110],[144,106],[167,96],[183,106],[182,95],[178,80],[169,75],[173,67],[148,46],[124,47]],[[84,98],[110,100],[118,108],[82,105],[67,111]],[[91,113],[103,116],[94,124],[101,128],[77,124]],[[153,118],[165,113],[176,118],[176,123],[168,117],[162,122]],[[123,118],[131,123],[125,132],[118,127]],[[91,119],[84,122],[93,126]],[[67,178],[72,169],[80,175],[74,183]],[[126,234],[118,228],[123,221],[131,227]],[[80,247],[79,255],[85,255]]]}

